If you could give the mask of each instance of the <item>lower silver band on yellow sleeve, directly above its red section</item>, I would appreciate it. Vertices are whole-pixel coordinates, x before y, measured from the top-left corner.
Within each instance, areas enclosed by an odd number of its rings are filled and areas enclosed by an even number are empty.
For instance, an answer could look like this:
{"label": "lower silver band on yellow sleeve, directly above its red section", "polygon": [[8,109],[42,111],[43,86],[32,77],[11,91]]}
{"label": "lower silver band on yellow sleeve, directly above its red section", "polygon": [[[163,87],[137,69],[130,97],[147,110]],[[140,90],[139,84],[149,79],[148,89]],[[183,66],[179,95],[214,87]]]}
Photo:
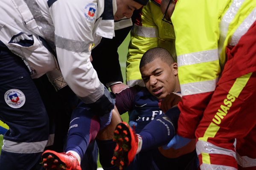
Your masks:
{"label": "lower silver band on yellow sleeve, directly above its red section", "polygon": [[180,85],[181,94],[182,96],[186,96],[186,95],[201,94],[201,93],[214,91],[217,82],[218,82],[218,77],[217,79],[214,79],[214,80],[183,84],[183,85]]}

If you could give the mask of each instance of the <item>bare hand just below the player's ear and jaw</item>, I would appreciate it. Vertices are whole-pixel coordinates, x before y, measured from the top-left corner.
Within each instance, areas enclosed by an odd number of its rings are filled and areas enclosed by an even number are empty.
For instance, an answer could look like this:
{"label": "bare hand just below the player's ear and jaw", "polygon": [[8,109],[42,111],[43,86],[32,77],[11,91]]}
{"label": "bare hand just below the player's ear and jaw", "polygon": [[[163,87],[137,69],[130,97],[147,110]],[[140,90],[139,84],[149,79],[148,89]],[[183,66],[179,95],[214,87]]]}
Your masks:
{"label": "bare hand just below the player's ear and jaw", "polygon": [[177,93],[171,93],[166,96],[161,102],[160,109],[166,113],[170,108],[177,106],[181,101],[181,95]]}

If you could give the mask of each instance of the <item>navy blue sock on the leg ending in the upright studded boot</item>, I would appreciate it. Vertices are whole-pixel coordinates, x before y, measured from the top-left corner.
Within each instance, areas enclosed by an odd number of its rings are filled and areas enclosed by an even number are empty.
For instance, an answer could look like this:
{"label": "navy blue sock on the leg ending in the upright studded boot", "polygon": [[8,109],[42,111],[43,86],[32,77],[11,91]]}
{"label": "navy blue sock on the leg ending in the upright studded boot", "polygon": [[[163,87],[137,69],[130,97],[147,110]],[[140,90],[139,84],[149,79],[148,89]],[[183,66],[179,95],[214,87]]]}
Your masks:
{"label": "navy blue sock on the leg ending in the upright studded boot", "polygon": [[180,111],[175,107],[148,123],[139,133],[143,140],[141,151],[167,144],[175,136],[179,115]]}

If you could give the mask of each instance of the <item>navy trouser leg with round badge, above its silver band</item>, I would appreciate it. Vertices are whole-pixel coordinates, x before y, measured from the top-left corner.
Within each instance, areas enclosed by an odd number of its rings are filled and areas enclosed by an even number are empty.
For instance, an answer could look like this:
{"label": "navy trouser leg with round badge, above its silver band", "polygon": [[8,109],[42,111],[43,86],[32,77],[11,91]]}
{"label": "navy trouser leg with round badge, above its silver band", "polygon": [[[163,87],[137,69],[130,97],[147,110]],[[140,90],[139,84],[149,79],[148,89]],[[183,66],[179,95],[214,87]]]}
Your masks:
{"label": "navy trouser leg with round badge, above its silver band", "polygon": [[28,68],[20,57],[0,47],[0,119],[10,128],[4,139],[47,140],[47,112]]}

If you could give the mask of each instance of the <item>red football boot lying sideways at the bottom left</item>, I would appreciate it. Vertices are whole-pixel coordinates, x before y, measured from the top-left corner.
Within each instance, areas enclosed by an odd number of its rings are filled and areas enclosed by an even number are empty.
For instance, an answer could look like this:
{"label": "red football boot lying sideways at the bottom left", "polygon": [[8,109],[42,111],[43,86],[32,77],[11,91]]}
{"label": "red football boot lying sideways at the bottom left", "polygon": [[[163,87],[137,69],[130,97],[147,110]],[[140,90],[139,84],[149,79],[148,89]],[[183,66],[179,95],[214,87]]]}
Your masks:
{"label": "red football boot lying sideways at the bottom left", "polygon": [[43,167],[47,170],[81,170],[78,160],[72,153],[46,150],[41,158]]}

